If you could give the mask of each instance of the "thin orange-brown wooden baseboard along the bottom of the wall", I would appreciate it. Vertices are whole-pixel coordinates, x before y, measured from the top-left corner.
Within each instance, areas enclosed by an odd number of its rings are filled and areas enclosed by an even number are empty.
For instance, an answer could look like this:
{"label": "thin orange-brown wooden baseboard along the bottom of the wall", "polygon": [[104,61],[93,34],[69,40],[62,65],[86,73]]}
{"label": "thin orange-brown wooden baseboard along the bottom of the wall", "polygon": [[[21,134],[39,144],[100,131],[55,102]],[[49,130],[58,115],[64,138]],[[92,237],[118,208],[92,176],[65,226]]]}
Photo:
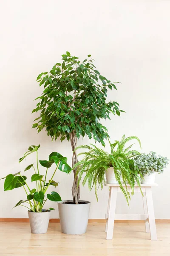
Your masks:
{"label": "thin orange-brown wooden baseboard along the bottom of the wall", "polygon": [[[156,219],[156,223],[170,223],[170,219]],[[0,222],[29,222],[28,218],[0,218]],[[50,219],[52,223],[59,223],[59,218]],[[88,223],[105,223],[105,219],[89,219]],[[115,220],[115,223],[144,223],[144,221]]]}

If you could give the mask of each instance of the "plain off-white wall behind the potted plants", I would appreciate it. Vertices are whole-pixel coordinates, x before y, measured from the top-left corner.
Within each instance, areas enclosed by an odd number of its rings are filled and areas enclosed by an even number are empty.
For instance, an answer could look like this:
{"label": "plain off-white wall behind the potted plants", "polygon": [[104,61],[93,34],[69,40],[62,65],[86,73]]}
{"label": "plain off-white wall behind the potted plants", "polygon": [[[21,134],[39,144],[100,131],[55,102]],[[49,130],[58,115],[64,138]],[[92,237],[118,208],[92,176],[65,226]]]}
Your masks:
{"label": "plain off-white wall behind the potted plants", "polygon": [[[109,93],[127,114],[112,116],[104,124],[111,140],[123,134],[136,135],[142,151],[156,151],[170,158],[170,1],[167,0],[1,0],[0,1],[0,177],[24,169],[33,156],[18,165],[29,145],[40,143],[40,159],[52,151],[68,157],[65,141],[51,143],[45,132],[31,129],[36,114],[34,98],[41,89],[37,75],[51,69],[68,50],[82,60],[91,54],[97,69],[112,81],[121,81],[118,91]],[[89,143],[89,140],[80,140]],[[108,148],[108,145],[106,147]],[[28,171],[28,176],[31,177]],[[170,166],[156,176],[153,189],[156,218],[170,218]],[[58,172],[58,192],[71,198],[73,174]],[[12,207],[25,199],[22,188],[3,192],[0,181],[0,217],[26,218],[24,207]],[[99,202],[87,186],[81,199],[92,202],[90,218],[105,218],[108,189],[99,191]],[[56,207],[56,203],[48,203]],[[134,209],[136,208],[136,209]],[[128,209],[120,194],[118,212],[140,212],[141,195],[135,195]],[[58,217],[57,210],[52,218]]]}

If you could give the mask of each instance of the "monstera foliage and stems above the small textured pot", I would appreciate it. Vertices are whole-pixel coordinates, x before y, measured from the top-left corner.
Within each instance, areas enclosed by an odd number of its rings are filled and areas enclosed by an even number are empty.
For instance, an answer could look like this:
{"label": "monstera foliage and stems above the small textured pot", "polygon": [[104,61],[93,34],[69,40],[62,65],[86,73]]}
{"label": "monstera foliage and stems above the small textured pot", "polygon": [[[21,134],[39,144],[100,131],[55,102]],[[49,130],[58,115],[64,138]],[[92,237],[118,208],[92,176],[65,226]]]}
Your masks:
{"label": "monstera foliage and stems above the small textured pot", "polygon": [[[36,183],[35,188],[31,189],[28,186],[28,184],[26,182],[27,177],[25,175],[21,175],[21,172],[17,172],[15,174],[9,174],[6,177],[2,178],[2,179],[5,179],[4,191],[23,187],[23,189],[26,192],[27,199],[24,201],[20,200],[14,207],[21,205],[23,207],[28,208],[32,212],[42,212],[42,207],[44,206],[47,199],[54,201],[54,202],[61,201],[61,197],[57,192],[53,191],[53,192],[51,192],[51,194],[47,194],[46,199],[45,199],[45,193],[47,192],[49,186],[51,186],[51,185],[55,186],[55,187],[58,186],[58,182],[53,180],[57,169],[59,169],[62,172],[66,172],[66,173],[69,173],[71,171],[71,167],[67,164],[67,158],[63,157],[61,154],[59,154],[57,152],[52,152],[49,155],[48,160],[40,160],[39,161],[40,165],[46,168],[45,177],[44,177],[44,175],[40,175],[39,164],[38,164],[38,148],[40,148],[40,145],[38,145],[38,146],[31,145],[28,148],[28,151],[26,151],[24,156],[21,157],[20,161],[19,161],[19,163],[20,163],[28,155],[36,152],[36,154],[37,154],[36,167],[34,167],[34,163],[32,163],[32,164],[28,165],[26,167],[26,169],[24,170],[24,172],[28,171],[31,168],[34,170],[34,174],[31,176],[31,182],[33,182],[34,184]],[[53,175],[47,182],[48,168],[50,168],[53,163],[55,163],[57,167],[55,168]],[[28,205],[27,206],[23,205],[25,203]],[[54,210],[54,208],[49,208],[49,209]]]}

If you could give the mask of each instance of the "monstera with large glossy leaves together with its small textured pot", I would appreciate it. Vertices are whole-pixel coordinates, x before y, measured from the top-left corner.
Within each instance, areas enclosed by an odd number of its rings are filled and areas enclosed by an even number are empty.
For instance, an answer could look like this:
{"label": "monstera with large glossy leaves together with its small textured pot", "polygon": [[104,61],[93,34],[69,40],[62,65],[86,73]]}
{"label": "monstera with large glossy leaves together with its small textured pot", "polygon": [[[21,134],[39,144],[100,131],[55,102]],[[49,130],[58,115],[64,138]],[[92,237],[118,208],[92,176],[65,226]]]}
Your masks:
{"label": "monstera with large glossy leaves together with its small textured pot", "polygon": [[[26,207],[28,209],[28,217],[31,226],[31,233],[42,234],[46,233],[48,229],[48,222],[50,218],[51,210],[54,208],[43,209],[45,202],[48,200],[58,202],[61,201],[60,195],[53,191],[51,194],[47,194],[47,198],[45,199],[45,194],[48,190],[49,186],[58,186],[58,183],[53,180],[54,175],[59,169],[62,172],[69,173],[71,171],[71,167],[67,164],[67,158],[63,157],[61,154],[57,152],[52,152],[49,155],[48,160],[40,160],[40,165],[46,168],[45,176],[40,175],[39,164],[38,164],[38,149],[40,145],[35,146],[31,145],[28,148],[28,151],[24,154],[23,157],[20,158],[20,161],[23,161],[28,155],[36,152],[36,166],[34,163],[28,165],[24,172],[33,169],[34,174],[31,176],[31,182],[34,184],[34,188],[30,188],[28,183],[26,182],[27,177],[25,175],[21,175],[21,172],[17,172],[14,175],[9,174],[3,179],[4,181],[4,191],[12,190],[15,188],[23,187],[26,192],[26,200],[20,200],[14,207],[19,205]],[[56,168],[53,172],[53,175],[48,180],[48,168],[50,168],[53,163],[56,164]],[[48,182],[47,182],[48,180]],[[26,205],[25,205],[26,204]]]}

